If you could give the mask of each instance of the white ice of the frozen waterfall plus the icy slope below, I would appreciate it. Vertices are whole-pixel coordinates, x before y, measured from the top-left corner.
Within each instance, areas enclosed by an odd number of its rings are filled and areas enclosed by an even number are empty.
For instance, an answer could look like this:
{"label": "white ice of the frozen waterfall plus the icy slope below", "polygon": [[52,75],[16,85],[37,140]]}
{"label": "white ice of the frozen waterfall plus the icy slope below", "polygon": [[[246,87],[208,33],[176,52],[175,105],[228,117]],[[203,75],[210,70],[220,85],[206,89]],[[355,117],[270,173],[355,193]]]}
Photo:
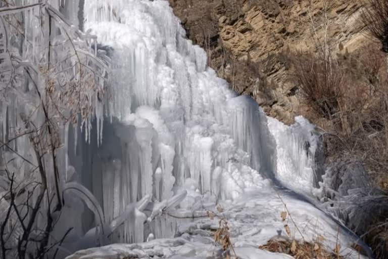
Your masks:
{"label": "white ice of the frozen waterfall plus the icy slope below", "polygon": [[[168,1],[88,0],[84,18],[85,31],[113,50],[112,96],[104,107],[93,107],[94,133],[91,118],[72,125],[72,131],[62,129],[67,140],[58,156],[66,168],[62,187],[74,189],[79,199],[66,197],[78,202],[67,202],[68,218],[60,219],[60,230],[82,219],[63,250],[74,251],[74,244],[79,249],[137,244],[81,250],[69,259],[211,256],[208,228],[217,219],[203,217],[216,204],[225,209],[241,258],[288,258],[257,248],[285,235],[278,194],[305,239],[323,235],[333,249],[340,229],[342,254],[352,252],[357,237],[301,199],[317,192],[319,136],[312,124],[297,117],[286,126],[267,117],[251,98],[236,96],[207,66],[205,51],[185,38]],[[12,117],[18,106],[0,105],[0,118],[6,117],[4,107]],[[17,123],[3,119],[2,124],[5,139]],[[18,144],[23,154],[30,153],[26,143]]]}

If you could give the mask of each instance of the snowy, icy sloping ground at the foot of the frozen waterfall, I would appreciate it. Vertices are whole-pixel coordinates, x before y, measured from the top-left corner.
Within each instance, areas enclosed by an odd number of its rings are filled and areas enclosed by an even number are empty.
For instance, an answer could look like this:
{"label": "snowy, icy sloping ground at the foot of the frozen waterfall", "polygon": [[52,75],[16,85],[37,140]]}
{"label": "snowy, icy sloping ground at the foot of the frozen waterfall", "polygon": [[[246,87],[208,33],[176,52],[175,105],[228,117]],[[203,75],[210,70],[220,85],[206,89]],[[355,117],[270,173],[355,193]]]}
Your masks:
{"label": "snowy, icy sloping ground at the foot of the frozen waterfall", "polygon": [[[262,180],[260,188],[246,190],[244,195],[221,204],[222,212],[229,223],[231,240],[236,254],[241,259],[249,258],[292,258],[279,253],[260,250],[259,245],[265,244],[271,238],[287,238],[284,222],[280,218],[284,205],[268,181]],[[341,245],[341,254],[347,258],[364,258],[358,252],[349,248],[356,241],[345,228],[339,227],[333,219],[313,207],[311,204],[298,200],[292,192],[279,191],[283,201],[302,231],[306,241],[313,241],[319,235],[325,237],[323,244],[326,249],[333,250],[336,243]],[[211,206],[209,207],[211,209]],[[213,211],[216,209],[213,207]],[[187,211],[188,212],[188,211]],[[176,215],[176,211],[171,211]],[[218,213],[218,212],[217,212]],[[206,215],[206,211],[196,211],[196,215]],[[183,216],[181,213],[180,216]],[[190,213],[187,213],[189,216]],[[212,230],[218,227],[218,218],[209,217],[194,220],[179,220],[180,226],[176,238],[155,239],[136,244],[113,244],[100,248],[81,250],[67,259],[98,259],[98,258],[224,258],[219,245],[215,246]],[[292,236],[301,239],[291,221]],[[338,241],[337,241],[338,235]]]}

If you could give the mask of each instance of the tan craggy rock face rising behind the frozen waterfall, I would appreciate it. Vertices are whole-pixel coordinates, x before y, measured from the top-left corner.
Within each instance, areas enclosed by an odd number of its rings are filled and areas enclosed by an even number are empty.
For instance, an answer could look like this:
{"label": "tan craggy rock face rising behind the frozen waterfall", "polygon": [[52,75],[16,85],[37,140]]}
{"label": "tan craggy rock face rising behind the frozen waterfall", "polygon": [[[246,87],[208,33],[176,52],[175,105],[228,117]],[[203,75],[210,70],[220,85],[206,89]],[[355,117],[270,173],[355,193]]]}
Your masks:
{"label": "tan craggy rock face rising behind the frozen waterfall", "polygon": [[208,63],[219,76],[285,123],[296,115],[311,117],[297,98],[298,85],[290,80],[287,55],[314,51],[325,34],[334,52],[351,53],[366,42],[362,1],[169,1],[187,36],[207,50]]}

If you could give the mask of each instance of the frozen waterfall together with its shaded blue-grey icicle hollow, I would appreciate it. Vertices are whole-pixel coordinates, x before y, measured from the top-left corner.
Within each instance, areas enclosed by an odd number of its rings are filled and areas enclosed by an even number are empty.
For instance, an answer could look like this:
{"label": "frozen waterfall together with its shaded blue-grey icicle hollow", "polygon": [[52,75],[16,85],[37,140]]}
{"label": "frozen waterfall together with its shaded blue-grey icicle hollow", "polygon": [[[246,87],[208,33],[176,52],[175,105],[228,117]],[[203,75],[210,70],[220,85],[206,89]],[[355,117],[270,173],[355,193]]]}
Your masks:
{"label": "frozen waterfall together with its shaded blue-grey icicle hollow", "polygon": [[[51,2],[78,23],[79,1]],[[95,35],[91,38],[98,39],[100,50],[94,41],[83,51],[108,60],[104,72],[110,81],[101,84],[104,89],[109,84],[111,96],[100,102],[98,94],[91,95],[93,116],[61,127],[64,145],[57,160],[65,204],[56,237],[73,227],[63,255],[113,242],[173,237],[176,218],[203,216],[218,200],[238,200],[253,190],[265,195],[250,196],[257,200],[253,206],[276,203],[276,210],[263,217],[277,217],[281,204],[274,185],[313,196],[320,178],[314,126],[298,117],[288,127],[268,118],[249,97],[230,91],[207,67],[205,51],[185,38],[167,1],[88,0],[84,19],[87,33],[81,34]],[[36,26],[31,25],[32,33]],[[76,40],[83,42],[81,36]],[[37,59],[36,51],[25,53],[33,55],[23,59]],[[17,114],[23,102],[0,102],[3,142],[21,124]],[[31,151],[26,139],[12,145],[24,156]],[[2,166],[4,157],[11,158],[3,153]],[[20,159],[14,164],[25,167]],[[18,177],[29,176],[21,170]],[[306,213],[323,219],[330,234],[337,231],[337,223],[312,205],[289,202],[300,210],[309,207]],[[275,227],[268,231],[265,237],[276,233]],[[349,233],[340,238],[347,245],[354,240]]]}

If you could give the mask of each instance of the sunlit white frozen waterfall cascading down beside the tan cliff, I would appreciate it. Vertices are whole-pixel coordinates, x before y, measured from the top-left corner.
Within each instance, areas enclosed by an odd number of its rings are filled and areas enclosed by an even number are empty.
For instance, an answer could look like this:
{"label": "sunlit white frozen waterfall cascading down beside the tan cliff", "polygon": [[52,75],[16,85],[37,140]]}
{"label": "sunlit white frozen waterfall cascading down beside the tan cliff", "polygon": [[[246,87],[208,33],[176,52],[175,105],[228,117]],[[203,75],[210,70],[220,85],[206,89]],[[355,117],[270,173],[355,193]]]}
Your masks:
{"label": "sunlit white frozen waterfall cascading down beside the tan cliff", "polygon": [[[114,177],[93,184],[102,196],[121,190],[112,197],[125,202],[110,214],[146,194],[169,198],[186,182],[222,198],[254,186],[247,179],[259,175],[311,191],[314,127],[300,118],[289,128],[230,91],[206,66],[206,53],[185,38],[168,2],[93,0],[84,12],[85,30],[114,50],[114,101],[107,110],[118,118],[120,147],[103,136],[103,149],[113,145],[116,152],[100,155],[106,161],[100,168],[112,168]],[[112,153],[118,153],[115,174]]]}

